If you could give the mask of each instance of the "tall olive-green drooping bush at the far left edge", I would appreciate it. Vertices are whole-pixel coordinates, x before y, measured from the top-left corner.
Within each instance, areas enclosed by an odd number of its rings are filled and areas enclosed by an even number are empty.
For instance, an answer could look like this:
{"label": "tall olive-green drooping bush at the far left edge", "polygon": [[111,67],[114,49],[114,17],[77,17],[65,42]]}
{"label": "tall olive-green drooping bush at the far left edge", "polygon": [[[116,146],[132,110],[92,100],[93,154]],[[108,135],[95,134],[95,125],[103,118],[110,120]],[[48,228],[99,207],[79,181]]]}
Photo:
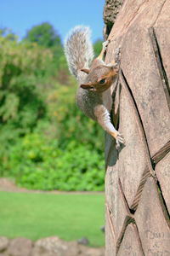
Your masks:
{"label": "tall olive-green drooping bush at the far left edge", "polygon": [[23,134],[46,113],[37,79],[48,68],[50,52],[8,36],[0,36],[0,45],[0,125],[13,125]]}

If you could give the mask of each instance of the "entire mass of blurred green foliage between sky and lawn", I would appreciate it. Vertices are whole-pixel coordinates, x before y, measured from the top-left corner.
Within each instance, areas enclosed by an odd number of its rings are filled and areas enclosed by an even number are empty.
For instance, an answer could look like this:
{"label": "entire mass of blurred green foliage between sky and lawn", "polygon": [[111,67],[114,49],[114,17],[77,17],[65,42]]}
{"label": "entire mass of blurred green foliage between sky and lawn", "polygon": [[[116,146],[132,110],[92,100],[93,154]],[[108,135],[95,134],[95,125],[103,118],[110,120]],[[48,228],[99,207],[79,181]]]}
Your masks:
{"label": "entire mass of blurred green foliage between sky and lawn", "polygon": [[104,189],[104,132],[77,108],[76,88],[53,26],[20,42],[0,31],[1,176],[29,189]]}

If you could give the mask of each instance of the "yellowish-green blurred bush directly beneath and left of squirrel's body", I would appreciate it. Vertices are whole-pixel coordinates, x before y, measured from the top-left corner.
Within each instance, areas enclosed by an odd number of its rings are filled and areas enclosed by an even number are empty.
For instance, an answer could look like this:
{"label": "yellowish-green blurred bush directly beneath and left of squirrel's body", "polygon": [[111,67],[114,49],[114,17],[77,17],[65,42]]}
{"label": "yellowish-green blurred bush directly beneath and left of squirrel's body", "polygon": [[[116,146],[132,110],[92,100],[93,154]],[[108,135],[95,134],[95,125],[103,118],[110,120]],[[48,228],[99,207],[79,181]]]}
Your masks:
{"label": "yellowish-green blurred bush directly beneath and left of squirrel's body", "polygon": [[74,140],[78,144],[88,144],[88,148],[94,148],[104,157],[104,131],[77,108],[76,87],[56,84],[48,94],[48,113],[55,127],[55,137],[61,148]]}

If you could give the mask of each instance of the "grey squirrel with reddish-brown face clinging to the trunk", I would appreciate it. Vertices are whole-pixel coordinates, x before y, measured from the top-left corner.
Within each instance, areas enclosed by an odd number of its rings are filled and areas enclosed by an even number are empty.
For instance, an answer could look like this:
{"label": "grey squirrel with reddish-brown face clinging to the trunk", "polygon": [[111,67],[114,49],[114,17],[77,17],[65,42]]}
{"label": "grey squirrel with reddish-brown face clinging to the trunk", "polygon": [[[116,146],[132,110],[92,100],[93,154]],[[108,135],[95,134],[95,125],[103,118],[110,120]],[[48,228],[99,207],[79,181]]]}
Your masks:
{"label": "grey squirrel with reddish-brown face clinging to the trunk", "polygon": [[116,139],[116,147],[119,147],[124,143],[124,138],[119,131],[116,131],[110,117],[112,107],[110,88],[116,81],[118,68],[115,61],[107,65],[103,61],[108,44],[109,41],[103,43],[101,53],[94,59],[90,29],[87,26],[76,26],[65,38],[64,49],[69,70],[78,82],[76,96],[78,108],[109,132]]}

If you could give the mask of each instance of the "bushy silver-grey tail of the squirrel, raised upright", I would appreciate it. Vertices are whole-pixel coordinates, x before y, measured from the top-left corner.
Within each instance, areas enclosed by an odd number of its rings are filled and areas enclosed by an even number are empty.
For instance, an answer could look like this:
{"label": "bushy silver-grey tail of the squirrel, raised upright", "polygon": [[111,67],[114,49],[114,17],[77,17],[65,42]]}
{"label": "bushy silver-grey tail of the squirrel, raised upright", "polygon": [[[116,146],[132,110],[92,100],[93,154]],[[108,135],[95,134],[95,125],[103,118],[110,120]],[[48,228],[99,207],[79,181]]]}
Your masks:
{"label": "bushy silver-grey tail of the squirrel, raised upright", "polygon": [[87,26],[76,26],[65,38],[65,56],[69,70],[76,78],[78,70],[90,66],[94,58],[94,49]]}

